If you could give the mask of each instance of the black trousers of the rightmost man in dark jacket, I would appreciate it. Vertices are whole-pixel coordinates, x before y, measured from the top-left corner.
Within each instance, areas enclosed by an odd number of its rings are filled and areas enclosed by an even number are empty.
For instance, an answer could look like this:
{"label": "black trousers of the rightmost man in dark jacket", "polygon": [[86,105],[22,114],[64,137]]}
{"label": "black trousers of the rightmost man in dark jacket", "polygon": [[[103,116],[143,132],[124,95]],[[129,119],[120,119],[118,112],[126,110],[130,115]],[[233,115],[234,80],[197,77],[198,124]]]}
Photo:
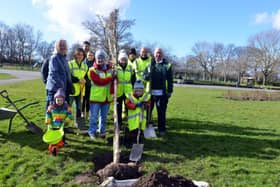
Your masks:
{"label": "black trousers of the rightmost man in dark jacket", "polygon": [[154,105],[157,107],[158,116],[158,131],[166,131],[166,109],[168,104],[168,97],[166,95],[162,96],[152,96],[151,99],[151,111],[153,111]]}

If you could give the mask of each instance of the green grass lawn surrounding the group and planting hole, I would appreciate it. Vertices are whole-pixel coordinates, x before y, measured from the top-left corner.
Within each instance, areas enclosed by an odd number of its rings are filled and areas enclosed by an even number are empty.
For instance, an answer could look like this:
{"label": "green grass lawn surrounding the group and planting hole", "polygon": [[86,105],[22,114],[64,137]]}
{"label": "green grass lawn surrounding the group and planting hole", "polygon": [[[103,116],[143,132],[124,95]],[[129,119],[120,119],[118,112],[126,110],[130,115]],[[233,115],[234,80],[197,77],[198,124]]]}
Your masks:
{"label": "green grass lawn surrounding the group and planting hole", "polygon": [[[23,113],[44,127],[41,80],[1,85],[1,89],[7,89],[12,99],[40,101]],[[146,174],[165,168],[171,175],[219,187],[280,186],[280,103],[231,101],[222,97],[225,92],[175,88],[168,105],[168,135],[145,141],[142,161]],[[111,120],[110,116],[110,124]],[[94,169],[95,155],[112,152],[112,146],[102,139],[93,142],[70,134],[70,145],[52,157],[41,137],[29,133],[20,117],[11,134],[7,134],[8,120],[0,124],[0,184],[4,186],[75,185],[76,175]]]}

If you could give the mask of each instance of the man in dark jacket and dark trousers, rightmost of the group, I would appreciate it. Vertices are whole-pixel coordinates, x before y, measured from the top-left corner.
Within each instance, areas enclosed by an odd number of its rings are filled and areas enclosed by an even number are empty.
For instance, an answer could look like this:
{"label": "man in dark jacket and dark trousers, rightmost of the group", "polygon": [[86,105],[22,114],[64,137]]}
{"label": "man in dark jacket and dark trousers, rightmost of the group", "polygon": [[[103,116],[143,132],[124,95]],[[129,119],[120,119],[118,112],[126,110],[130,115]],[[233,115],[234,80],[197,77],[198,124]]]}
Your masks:
{"label": "man in dark jacket and dark trousers, rightmost of the group", "polygon": [[154,59],[143,74],[146,80],[151,81],[151,108],[156,103],[158,114],[158,130],[160,136],[166,133],[166,109],[168,99],[173,92],[172,65],[163,58],[161,48],[154,51]]}

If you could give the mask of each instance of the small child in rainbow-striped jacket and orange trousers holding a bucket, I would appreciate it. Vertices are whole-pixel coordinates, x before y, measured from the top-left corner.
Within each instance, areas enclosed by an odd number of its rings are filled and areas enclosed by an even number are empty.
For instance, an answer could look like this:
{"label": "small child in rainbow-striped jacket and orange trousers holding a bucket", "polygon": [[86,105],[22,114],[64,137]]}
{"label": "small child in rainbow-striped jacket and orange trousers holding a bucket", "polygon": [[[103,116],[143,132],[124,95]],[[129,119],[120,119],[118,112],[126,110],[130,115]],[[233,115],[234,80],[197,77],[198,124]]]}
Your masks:
{"label": "small child in rainbow-striped jacket and orange trousers holding a bucket", "polygon": [[[48,106],[46,112],[45,124],[49,125],[51,130],[60,130],[64,124],[69,124],[72,119],[71,107],[65,102],[65,93],[62,88],[59,88],[54,95],[54,102]],[[63,130],[63,129],[62,129]],[[49,153],[56,156],[58,148],[64,146],[65,135],[58,143],[49,144]]]}

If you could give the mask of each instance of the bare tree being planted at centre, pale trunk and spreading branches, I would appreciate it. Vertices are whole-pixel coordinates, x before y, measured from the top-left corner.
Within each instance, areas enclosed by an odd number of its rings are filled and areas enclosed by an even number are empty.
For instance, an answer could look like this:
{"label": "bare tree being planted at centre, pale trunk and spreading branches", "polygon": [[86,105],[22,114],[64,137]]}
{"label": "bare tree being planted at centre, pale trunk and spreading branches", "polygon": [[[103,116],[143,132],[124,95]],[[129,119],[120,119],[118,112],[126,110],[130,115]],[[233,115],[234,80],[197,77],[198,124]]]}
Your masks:
{"label": "bare tree being planted at centre, pale trunk and spreading branches", "polygon": [[[122,20],[119,10],[113,10],[108,17],[97,15],[94,21],[86,21],[84,26],[90,31],[95,45],[103,48],[110,55],[116,67],[118,51],[122,46],[132,43],[132,35],[128,29],[134,25],[134,20]],[[117,88],[117,80],[114,80],[114,90]],[[119,126],[117,120],[117,95],[114,93],[114,146],[113,162],[120,160]]]}

